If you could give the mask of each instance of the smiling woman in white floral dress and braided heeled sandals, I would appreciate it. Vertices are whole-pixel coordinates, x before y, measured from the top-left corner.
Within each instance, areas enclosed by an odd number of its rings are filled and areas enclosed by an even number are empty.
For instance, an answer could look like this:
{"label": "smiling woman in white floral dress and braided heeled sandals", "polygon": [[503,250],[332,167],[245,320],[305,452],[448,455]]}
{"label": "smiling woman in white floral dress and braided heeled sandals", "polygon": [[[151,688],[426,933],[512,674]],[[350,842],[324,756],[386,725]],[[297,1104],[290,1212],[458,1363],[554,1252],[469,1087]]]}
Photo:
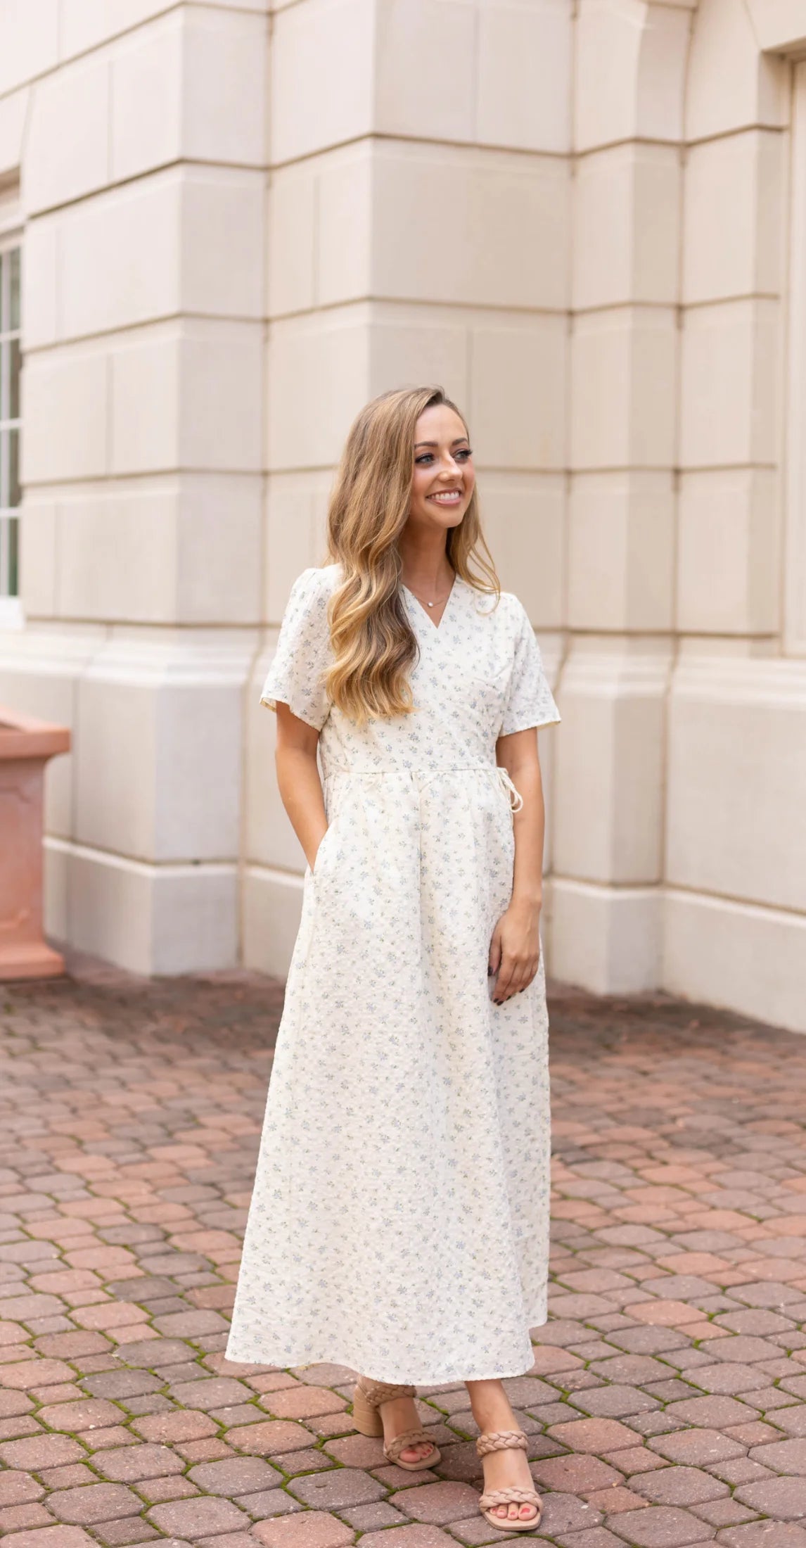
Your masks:
{"label": "smiling woman in white floral dress and braided heeled sandals", "polygon": [[227,1358],[360,1370],[354,1424],[412,1471],[439,1460],[412,1384],[466,1381],[481,1508],[534,1529],[501,1378],[546,1320],[535,728],[560,717],[441,389],[359,413],[328,539],[261,697],[308,868]]}

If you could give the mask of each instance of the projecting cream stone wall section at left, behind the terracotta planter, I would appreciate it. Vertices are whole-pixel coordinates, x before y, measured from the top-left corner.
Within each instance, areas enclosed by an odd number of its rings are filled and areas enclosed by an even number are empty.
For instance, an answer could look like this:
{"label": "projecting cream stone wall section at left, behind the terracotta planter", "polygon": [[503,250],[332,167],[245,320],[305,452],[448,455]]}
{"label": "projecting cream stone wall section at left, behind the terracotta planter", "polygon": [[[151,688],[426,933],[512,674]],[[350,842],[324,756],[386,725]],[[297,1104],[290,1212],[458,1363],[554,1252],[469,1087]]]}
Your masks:
{"label": "projecting cream stone wall section at left, behind the terracotta planter", "polygon": [[85,0],[0,20],[26,618],[0,697],[74,732],[50,793],[51,932],[139,972],[240,950],[268,26],[261,5]]}

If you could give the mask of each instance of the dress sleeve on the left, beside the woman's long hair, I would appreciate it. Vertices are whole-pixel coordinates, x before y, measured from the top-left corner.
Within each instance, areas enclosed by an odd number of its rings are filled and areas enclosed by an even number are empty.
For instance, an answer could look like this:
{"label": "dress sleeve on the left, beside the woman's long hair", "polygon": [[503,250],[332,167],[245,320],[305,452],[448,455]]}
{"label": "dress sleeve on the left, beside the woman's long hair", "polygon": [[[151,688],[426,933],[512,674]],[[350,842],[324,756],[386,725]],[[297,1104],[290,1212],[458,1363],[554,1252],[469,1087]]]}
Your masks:
{"label": "dress sleeve on the left, beside the woman's long hair", "polygon": [[291,587],[288,607],[280,625],[280,638],[260,703],[277,709],[288,704],[292,715],[322,731],[330,700],[325,692],[325,670],[330,655],[328,588],[322,570],[303,570]]}

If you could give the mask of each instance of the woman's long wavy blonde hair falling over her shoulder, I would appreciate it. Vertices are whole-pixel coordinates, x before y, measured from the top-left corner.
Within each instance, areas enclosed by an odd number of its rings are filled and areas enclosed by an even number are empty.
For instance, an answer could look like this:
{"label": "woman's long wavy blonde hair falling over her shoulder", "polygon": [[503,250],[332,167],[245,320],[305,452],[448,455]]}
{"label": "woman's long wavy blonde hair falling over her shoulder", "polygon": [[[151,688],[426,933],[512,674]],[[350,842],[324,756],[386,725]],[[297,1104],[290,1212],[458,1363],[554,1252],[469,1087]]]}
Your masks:
{"label": "woman's long wavy blonde hair falling over her shoulder", "polygon": [[[415,427],[425,409],[453,409],[441,387],[404,387],[373,398],[357,415],[339,464],[328,506],[328,562],[342,565],[330,601],[333,664],[330,698],[359,726],[370,717],[415,711],[408,670],[418,642],[399,593],[398,539],[412,508]],[[456,574],[476,591],[501,594],[484,542],[473,489],[458,526],[446,536]]]}

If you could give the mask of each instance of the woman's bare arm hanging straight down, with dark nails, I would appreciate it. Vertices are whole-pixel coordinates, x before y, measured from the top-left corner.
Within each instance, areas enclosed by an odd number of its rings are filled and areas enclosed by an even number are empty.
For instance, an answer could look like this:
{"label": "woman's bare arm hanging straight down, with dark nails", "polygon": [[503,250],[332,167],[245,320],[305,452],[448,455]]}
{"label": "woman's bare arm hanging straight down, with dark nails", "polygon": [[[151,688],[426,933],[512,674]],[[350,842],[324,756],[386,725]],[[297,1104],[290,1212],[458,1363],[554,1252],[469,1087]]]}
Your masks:
{"label": "woman's bare arm hanging straight down, with dark nails", "polygon": [[489,971],[497,975],[494,1000],[503,1005],[526,989],[540,964],[546,810],[535,728],[500,737],[495,755],[523,797],[523,807],[512,816],[515,833],[512,898],[492,932],[489,955]]}

